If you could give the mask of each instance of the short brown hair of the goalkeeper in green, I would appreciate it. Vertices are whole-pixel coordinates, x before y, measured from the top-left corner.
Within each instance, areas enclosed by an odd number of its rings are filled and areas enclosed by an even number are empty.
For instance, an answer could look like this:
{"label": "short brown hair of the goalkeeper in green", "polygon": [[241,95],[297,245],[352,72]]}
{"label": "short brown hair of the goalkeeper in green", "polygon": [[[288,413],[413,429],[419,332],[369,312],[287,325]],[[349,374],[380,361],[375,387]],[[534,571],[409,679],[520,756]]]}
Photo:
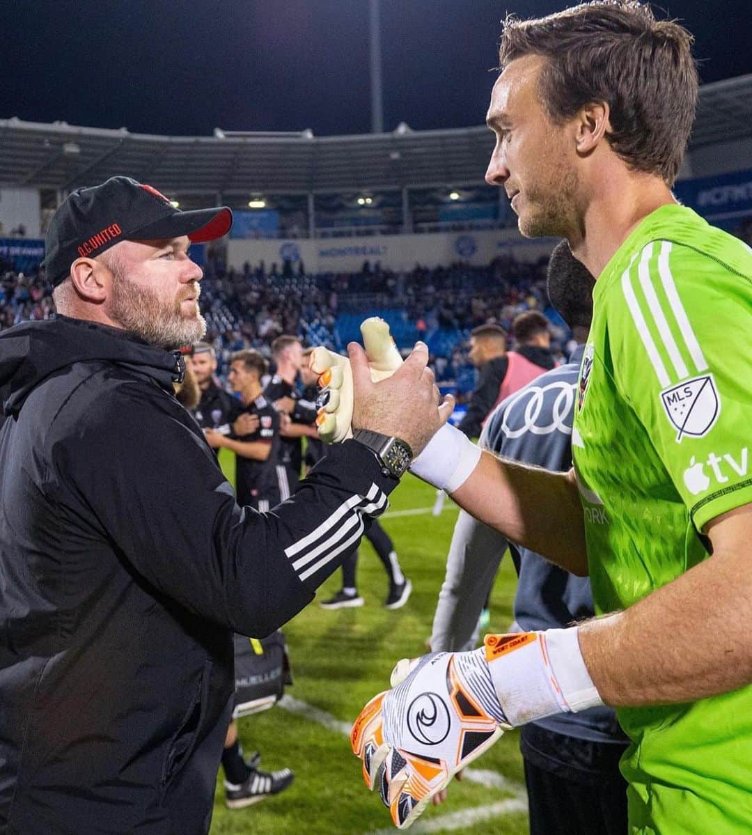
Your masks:
{"label": "short brown hair of the goalkeeper in green", "polygon": [[608,142],[633,170],[674,185],[697,104],[692,35],[647,3],[595,0],[536,20],[504,21],[499,64],[542,55],[540,94],[555,123],[605,102]]}

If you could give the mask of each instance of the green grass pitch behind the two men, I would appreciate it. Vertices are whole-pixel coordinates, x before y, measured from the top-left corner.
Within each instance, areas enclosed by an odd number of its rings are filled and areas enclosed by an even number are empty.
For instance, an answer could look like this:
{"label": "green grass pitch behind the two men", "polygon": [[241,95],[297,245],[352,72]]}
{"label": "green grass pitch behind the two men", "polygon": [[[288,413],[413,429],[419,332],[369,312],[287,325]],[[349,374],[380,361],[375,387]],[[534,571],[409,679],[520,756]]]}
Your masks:
{"label": "green grass pitch behind the two men", "polygon": [[[346,729],[366,701],[388,686],[396,660],[426,651],[457,519],[457,508],[449,501],[439,517],[432,516],[434,498],[432,488],[406,476],[392,493],[383,520],[413,584],[404,608],[383,608],[386,574],[364,540],[358,586],[366,605],[326,611],[314,601],[285,627],[295,677],[287,693],[293,701],[287,708],[275,706],[240,720],[240,737],[246,752],[261,751],[262,767],[289,766],[295,782],[279,797],[231,812],[218,778],[212,835],[396,832],[386,807],[363,785]],[[512,562],[505,559],[492,596],[492,630],[505,630],[512,620],[514,582]],[[340,584],[338,572],[319,591],[319,598],[331,595]],[[411,832],[527,832],[517,733],[502,736],[471,772],[463,782],[452,783],[447,802],[429,807]]]}

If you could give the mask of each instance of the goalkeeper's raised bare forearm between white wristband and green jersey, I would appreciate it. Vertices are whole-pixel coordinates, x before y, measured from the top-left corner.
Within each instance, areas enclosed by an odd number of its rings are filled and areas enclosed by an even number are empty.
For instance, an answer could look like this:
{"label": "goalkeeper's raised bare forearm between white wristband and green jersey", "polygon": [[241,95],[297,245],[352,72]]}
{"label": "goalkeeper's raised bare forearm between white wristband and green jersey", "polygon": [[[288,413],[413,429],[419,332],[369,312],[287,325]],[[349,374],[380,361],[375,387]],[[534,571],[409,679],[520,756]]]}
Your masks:
{"label": "goalkeeper's raised bare forearm between white wristband and green jersey", "polygon": [[573,574],[588,574],[583,507],[574,478],[485,451],[452,499],[512,542]]}

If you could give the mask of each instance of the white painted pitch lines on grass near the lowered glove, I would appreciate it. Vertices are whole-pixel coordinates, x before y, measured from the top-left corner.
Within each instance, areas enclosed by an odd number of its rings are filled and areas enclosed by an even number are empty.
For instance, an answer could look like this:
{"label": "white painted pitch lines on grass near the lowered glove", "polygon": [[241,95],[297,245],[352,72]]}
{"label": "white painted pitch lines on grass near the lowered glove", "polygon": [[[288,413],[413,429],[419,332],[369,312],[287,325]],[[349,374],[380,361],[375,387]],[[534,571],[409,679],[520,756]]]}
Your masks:
{"label": "white painted pitch lines on grass near the lowered glove", "polygon": [[[303,716],[305,719],[318,722],[329,731],[335,731],[343,736],[350,736],[351,724],[336,719],[331,713],[322,711],[319,707],[309,705],[307,701],[296,699],[295,696],[282,696],[277,704],[285,711]],[[498,803],[490,803],[486,806],[478,806],[472,809],[464,809],[462,812],[451,812],[441,817],[435,817],[432,821],[417,822],[411,827],[411,832],[420,835],[421,832],[448,832],[452,829],[472,826],[474,823],[491,820],[492,817],[509,815],[512,812],[527,812],[527,796],[525,787],[519,783],[507,780],[502,774],[488,771],[482,768],[466,768],[462,775],[468,782],[478,783],[486,788],[496,789],[501,792],[509,792],[514,795],[507,800]],[[394,827],[378,829],[368,835],[393,835]]]}

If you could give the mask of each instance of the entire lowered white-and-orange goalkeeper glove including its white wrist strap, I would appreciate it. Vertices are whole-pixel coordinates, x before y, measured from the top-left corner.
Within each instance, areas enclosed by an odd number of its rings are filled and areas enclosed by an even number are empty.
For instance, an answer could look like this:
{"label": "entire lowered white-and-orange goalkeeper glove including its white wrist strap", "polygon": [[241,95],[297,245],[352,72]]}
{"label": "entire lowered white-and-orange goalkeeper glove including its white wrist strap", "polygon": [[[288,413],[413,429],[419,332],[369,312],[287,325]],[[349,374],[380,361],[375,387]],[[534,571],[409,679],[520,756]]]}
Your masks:
{"label": "entire lowered white-and-orange goalkeeper glove including its white wrist strap", "polygon": [[401,660],[392,689],[352,726],[369,789],[405,829],[452,777],[508,728],[603,704],[579,650],[577,627],[487,635],[472,652]]}

